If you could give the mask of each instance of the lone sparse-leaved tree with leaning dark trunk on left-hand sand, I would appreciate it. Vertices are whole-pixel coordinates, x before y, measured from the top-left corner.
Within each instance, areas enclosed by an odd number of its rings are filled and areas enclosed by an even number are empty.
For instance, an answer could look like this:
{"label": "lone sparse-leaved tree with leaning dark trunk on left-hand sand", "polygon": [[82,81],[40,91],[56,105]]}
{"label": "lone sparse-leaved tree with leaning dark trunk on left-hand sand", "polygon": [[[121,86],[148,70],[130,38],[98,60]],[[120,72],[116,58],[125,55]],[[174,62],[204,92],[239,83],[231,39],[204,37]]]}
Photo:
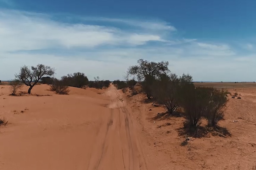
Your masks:
{"label": "lone sparse-leaved tree with leaning dark trunk on left-hand sand", "polygon": [[[24,65],[20,68],[20,72],[15,77],[23,82],[26,86],[29,86],[28,93],[31,93],[31,89],[38,83],[38,81],[45,75],[52,76],[55,74],[55,69],[43,64],[38,64],[36,67],[29,68]],[[33,83],[32,83],[33,82]]]}

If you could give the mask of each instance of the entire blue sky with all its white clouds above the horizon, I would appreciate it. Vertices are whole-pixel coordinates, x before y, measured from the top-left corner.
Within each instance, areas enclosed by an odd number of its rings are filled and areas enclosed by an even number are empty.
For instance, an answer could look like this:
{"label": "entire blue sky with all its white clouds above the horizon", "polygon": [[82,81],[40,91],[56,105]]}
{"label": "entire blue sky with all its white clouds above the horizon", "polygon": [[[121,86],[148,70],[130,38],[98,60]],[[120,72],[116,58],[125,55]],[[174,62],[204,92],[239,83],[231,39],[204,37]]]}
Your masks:
{"label": "entire blue sky with all its white clouds above the horizon", "polygon": [[46,64],[56,77],[122,79],[140,58],[195,81],[255,81],[256,1],[0,0],[0,80]]}

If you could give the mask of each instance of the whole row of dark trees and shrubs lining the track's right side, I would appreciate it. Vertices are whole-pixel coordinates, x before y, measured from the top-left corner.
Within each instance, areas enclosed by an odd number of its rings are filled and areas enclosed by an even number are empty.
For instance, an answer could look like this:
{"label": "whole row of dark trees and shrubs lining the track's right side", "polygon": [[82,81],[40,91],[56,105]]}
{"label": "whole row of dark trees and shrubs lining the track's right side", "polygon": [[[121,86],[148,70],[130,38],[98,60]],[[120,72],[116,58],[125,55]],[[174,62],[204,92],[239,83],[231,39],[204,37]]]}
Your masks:
{"label": "whole row of dark trees and shrubs lining the track's right side", "polygon": [[[179,107],[184,111],[187,120],[184,128],[196,132],[205,117],[209,127],[216,127],[223,118],[222,108],[227,102],[224,90],[208,87],[195,87],[190,75],[167,75],[168,62],[149,62],[138,60],[137,66],[129,68],[129,73],[137,75],[141,82],[143,93],[148,99],[163,105],[169,114],[173,114]],[[236,94],[237,95],[237,94]]]}

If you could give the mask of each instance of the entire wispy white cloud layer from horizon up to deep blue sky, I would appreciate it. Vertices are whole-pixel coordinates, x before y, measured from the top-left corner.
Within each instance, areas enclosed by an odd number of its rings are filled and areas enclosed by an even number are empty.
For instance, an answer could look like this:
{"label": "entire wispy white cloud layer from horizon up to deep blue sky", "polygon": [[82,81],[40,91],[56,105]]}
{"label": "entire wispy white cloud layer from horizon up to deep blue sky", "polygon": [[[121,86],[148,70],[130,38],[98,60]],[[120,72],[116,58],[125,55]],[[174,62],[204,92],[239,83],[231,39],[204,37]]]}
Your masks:
{"label": "entire wispy white cloud layer from horizon up to deep blue sky", "polygon": [[122,79],[143,58],[167,60],[171,71],[189,73],[196,81],[252,81],[243,74],[256,71],[253,55],[239,56],[227,43],[174,38],[172,32],[178,30],[163,21],[85,18],[68,23],[47,14],[1,10],[0,80],[13,78],[23,64],[38,63],[55,67],[57,77],[79,71],[89,79]]}

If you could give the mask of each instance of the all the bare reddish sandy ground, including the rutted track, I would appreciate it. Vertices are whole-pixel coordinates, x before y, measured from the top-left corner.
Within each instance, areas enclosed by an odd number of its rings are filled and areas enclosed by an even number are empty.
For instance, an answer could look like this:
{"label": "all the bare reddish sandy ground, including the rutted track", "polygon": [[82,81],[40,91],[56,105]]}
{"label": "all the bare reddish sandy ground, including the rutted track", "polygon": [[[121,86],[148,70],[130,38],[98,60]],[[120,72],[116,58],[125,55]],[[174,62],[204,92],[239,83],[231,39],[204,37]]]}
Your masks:
{"label": "all the bare reddish sandy ground, including the rutted track", "polygon": [[158,114],[164,108],[143,94],[48,89],[10,96],[0,86],[0,118],[8,121],[0,126],[1,170],[256,169],[256,88],[231,89],[241,99],[229,96],[219,131],[202,129],[187,143],[184,116]]}

